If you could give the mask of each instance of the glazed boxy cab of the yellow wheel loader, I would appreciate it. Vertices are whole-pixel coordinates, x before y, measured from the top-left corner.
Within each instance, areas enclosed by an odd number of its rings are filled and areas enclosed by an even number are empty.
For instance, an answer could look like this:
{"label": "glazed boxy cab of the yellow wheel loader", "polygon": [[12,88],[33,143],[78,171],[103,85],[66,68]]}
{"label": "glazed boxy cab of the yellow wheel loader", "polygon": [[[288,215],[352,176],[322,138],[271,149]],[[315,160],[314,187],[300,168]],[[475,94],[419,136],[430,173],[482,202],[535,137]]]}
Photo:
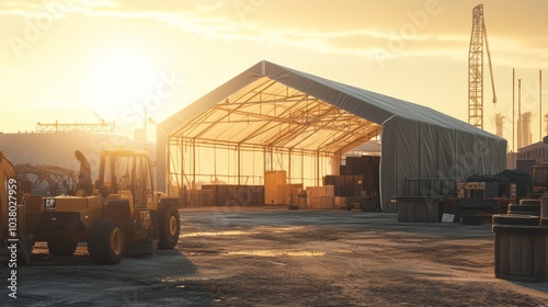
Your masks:
{"label": "glazed boxy cab of the yellow wheel loader", "polygon": [[103,150],[95,184],[103,198],[128,198],[134,209],[156,209],[150,159],[142,150]]}

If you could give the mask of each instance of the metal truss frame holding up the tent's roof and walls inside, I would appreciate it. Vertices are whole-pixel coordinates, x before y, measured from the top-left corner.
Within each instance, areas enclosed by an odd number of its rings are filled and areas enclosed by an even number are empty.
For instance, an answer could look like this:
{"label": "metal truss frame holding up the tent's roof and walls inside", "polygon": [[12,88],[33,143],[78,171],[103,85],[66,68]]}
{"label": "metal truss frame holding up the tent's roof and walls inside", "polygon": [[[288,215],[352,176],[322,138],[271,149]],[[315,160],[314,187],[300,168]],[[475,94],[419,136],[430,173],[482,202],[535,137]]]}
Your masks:
{"label": "metal truss frame holding up the tent's roof and walls inside", "polygon": [[[243,126],[243,127],[242,127]],[[312,157],[313,182],[321,185],[323,175],[331,173],[322,164],[324,159],[339,158],[380,134],[380,126],[347,111],[326,103],[312,95],[292,89],[267,77],[252,82],[224,101],[191,118],[168,138],[169,186],[195,186],[199,177],[224,177],[235,184],[243,184],[240,177],[242,151],[262,152],[264,171],[276,169],[274,156],[288,157],[289,180],[302,180],[304,173],[290,171],[292,161]],[[184,168],[183,150],[190,146],[194,154],[190,168]],[[236,151],[237,173],[199,173],[196,150],[209,148]],[[215,155],[215,154],[214,154]],[[181,166],[173,160],[180,159]],[[322,172],[323,169],[323,172]]]}

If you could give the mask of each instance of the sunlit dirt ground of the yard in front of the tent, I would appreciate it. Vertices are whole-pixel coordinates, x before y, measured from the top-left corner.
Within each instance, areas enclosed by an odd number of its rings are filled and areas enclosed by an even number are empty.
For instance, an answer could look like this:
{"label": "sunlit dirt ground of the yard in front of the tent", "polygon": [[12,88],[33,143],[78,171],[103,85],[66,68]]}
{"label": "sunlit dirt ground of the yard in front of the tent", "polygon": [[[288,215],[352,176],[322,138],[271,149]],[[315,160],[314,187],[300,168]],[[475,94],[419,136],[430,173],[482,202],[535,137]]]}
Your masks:
{"label": "sunlit dirt ground of the yard in front of the tent", "polygon": [[548,283],[494,277],[489,225],[285,207],[185,208],[181,219],[176,250],[118,265],[91,264],[84,246],[49,258],[37,243],[18,298],[2,286],[0,305],[548,306]]}

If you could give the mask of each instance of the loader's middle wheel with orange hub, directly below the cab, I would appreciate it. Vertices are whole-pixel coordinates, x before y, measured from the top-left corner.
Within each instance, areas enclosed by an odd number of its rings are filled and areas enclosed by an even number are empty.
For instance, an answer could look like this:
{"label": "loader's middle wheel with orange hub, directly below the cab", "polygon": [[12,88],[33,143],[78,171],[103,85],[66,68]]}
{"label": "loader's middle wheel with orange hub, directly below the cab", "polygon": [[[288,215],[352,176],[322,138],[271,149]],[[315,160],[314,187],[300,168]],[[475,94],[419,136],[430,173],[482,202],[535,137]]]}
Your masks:
{"label": "loader's middle wheel with orange hub, directly below the cab", "polygon": [[117,264],[124,258],[126,245],[122,226],[115,220],[102,219],[93,224],[88,236],[91,262]]}

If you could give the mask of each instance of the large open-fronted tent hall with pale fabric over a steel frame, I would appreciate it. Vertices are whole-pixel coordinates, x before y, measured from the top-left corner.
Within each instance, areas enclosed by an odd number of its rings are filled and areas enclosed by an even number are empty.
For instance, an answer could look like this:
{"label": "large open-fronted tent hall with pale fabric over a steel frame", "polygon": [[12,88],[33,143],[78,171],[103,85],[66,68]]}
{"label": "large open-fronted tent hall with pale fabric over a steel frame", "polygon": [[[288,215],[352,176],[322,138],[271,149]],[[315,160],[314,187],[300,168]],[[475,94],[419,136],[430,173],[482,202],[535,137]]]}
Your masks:
{"label": "large open-fronted tent hall with pale fabric over a steel frame", "polygon": [[[445,103],[445,102],[441,102]],[[380,196],[401,195],[406,179],[465,180],[506,166],[506,140],[426,106],[261,61],[159,125],[158,164],[184,181],[194,146],[226,145],[341,157],[380,134]],[[183,149],[184,147],[184,149]],[[199,156],[194,152],[194,156]],[[231,160],[237,174],[241,156]],[[335,159],[336,161],[336,159]],[[334,168],[333,168],[334,169]],[[241,175],[241,174],[240,174]],[[320,175],[320,171],[316,172]]]}

